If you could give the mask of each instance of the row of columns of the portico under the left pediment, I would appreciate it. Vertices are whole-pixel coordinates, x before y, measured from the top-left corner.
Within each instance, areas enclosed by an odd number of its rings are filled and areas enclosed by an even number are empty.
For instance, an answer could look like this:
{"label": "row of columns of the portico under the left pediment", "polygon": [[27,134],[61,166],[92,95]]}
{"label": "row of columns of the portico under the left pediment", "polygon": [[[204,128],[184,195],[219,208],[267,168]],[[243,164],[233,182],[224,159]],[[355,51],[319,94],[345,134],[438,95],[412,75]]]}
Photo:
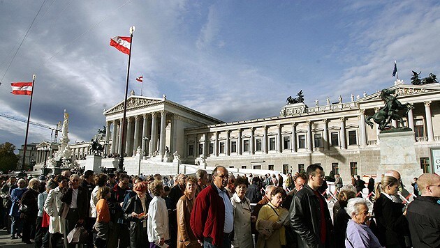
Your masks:
{"label": "row of columns of the portico under the left pediment", "polygon": [[[126,118],[126,143],[124,153],[127,156],[135,155],[138,148],[142,151],[147,151],[149,155],[152,155],[156,150],[158,150],[159,155],[163,156],[165,154],[165,135],[166,135],[166,116],[167,111],[160,111],[161,114],[161,124],[160,124],[160,134],[159,134],[159,149],[157,147],[157,116],[158,112],[153,112],[151,114],[142,114],[142,116],[129,116]],[[148,130],[149,116],[151,116],[151,130]],[[142,119],[142,125],[141,125]],[[122,151],[122,118],[118,120],[108,121],[106,123],[107,132],[110,132],[110,125],[113,125],[112,132],[112,146],[110,148],[105,148],[106,153],[110,154],[120,154]],[[133,130],[134,129],[134,130]],[[118,135],[119,134],[119,135]],[[147,141],[148,140],[148,141]],[[105,144],[110,142],[110,133],[105,136]],[[148,142],[148,146],[147,146]]]}

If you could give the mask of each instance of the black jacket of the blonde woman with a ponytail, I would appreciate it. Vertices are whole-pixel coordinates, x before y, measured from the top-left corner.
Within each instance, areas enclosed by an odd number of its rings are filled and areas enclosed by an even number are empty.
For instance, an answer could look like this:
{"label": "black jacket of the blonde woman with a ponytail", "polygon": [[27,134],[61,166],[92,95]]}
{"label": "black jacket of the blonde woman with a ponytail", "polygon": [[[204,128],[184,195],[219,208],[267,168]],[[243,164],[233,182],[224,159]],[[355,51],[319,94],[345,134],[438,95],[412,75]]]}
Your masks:
{"label": "black jacket of the blonde woman with a ponytail", "polygon": [[374,202],[377,232],[374,233],[383,246],[406,247],[405,235],[409,235],[408,221],[403,215],[403,203],[394,203],[384,194]]}

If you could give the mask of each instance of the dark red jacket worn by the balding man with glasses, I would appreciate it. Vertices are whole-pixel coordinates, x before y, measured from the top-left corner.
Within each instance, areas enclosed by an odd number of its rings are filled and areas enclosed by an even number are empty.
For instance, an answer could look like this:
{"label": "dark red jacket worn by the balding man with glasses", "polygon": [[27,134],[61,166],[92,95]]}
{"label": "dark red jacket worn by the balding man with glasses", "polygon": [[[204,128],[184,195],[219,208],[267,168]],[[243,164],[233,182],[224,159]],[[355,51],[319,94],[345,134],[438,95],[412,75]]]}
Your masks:
{"label": "dark red jacket worn by the balding man with glasses", "polygon": [[190,219],[196,238],[212,238],[212,244],[220,247],[225,226],[225,205],[214,184],[203,189],[196,198]]}

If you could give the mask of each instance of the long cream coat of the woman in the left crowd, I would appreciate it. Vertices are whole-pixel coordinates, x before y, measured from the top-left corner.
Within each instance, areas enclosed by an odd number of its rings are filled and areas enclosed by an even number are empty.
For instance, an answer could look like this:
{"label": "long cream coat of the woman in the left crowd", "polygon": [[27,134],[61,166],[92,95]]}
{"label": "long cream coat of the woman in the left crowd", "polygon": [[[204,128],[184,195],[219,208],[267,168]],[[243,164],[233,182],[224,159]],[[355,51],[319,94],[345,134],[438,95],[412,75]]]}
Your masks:
{"label": "long cream coat of the woman in the left crowd", "polygon": [[43,209],[50,216],[49,233],[64,233],[64,220],[61,221],[58,211],[61,208],[61,190],[59,187],[50,189]]}

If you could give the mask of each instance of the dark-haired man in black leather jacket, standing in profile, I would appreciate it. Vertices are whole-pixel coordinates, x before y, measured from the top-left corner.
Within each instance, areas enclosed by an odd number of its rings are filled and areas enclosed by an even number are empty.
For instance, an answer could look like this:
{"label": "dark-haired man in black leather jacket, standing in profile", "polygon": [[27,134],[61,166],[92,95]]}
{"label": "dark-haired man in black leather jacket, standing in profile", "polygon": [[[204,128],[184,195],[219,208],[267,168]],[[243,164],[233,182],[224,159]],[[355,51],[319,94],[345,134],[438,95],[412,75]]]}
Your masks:
{"label": "dark-haired man in black leather jacket, standing in profile", "polygon": [[290,219],[298,247],[332,247],[332,219],[327,202],[319,194],[324,170],[318,164],[307,167],[307,184],[293,196]]}

